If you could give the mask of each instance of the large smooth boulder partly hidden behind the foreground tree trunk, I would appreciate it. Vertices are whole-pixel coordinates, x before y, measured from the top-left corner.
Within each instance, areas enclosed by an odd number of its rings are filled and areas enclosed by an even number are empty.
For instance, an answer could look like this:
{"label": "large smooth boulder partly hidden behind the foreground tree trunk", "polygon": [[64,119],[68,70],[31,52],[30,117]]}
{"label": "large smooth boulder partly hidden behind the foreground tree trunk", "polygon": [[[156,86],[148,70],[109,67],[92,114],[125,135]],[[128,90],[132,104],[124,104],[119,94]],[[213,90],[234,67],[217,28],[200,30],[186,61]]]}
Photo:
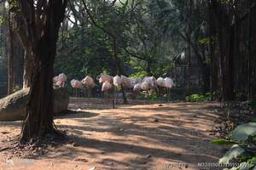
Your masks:
{"label": "large smooth boulder partly hidden behind the foreground tree trunk", "polygon": [[[20,121],[26,116],[29,88],[0,99],[0,121]],[[69,94],[64,88],[54,89],[54,111],[58,115],[67,110]]]}

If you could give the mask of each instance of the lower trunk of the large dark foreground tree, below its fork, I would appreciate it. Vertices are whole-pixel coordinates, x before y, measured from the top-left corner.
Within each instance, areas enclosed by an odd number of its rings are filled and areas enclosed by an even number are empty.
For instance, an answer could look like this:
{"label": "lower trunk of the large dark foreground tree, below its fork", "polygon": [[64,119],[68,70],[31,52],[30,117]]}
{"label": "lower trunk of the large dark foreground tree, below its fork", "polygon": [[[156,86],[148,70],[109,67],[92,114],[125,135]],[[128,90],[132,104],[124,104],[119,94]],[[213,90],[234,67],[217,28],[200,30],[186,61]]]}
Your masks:
{"label": "lower trunk of the large dark foreground tree, below its fork", "polygon": [[[44,47],[44,49],[49,48]],[[38,56],[39,60],[33,73],[30,98],[26,109],[27,116],[21,131],[21,141],[44,137],[45,133],[52,133],[54,130],[52,82],[54,57],[55,55],[50,52]],[[50,62],[44,58],[49,58]]]}

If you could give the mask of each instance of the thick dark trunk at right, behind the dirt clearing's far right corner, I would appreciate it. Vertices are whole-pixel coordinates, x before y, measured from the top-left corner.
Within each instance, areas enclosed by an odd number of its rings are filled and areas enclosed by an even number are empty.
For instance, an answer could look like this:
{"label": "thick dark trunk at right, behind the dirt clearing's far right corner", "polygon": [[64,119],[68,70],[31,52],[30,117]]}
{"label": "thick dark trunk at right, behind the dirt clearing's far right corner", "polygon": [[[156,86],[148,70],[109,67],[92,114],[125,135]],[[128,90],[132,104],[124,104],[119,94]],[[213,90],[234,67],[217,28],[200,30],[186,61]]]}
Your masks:
{"label": "thick dark trunk at right, behind the dirt clearing's far right corner", "polygon": [[[235,52],[235,28],[230,24],[230,16],[217,0],[212,0],[211,8],[215,14],[219,65],[221,76],[221,99],[234,99],[234,75],[233,75],[233,55]],[[236,22],[236,20],[235,20]]]}

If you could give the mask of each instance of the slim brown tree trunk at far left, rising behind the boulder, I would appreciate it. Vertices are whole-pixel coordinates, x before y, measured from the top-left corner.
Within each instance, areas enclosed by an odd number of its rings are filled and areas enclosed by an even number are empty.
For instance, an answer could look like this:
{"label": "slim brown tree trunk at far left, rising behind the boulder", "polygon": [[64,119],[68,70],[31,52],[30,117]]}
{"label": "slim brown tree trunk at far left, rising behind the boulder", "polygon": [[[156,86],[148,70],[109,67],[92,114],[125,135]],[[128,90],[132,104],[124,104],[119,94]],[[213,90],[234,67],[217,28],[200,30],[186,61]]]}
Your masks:
{"label": "slim brown tree trunk at far left, rising behind the boulder", "polygon": [[8,54],[8,95],[14,93],[15,70],[14,70],[14,31],[11,23],[11,13],[8,12],[9,26],[9,54]]}

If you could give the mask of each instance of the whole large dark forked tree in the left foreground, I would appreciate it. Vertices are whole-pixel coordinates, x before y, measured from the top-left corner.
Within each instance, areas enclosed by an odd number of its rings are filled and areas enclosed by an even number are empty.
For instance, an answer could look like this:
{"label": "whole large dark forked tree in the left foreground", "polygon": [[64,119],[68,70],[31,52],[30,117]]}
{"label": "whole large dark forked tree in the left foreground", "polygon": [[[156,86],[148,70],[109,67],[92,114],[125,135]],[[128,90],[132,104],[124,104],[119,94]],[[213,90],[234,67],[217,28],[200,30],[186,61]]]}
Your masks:
{"label": "whole large dark forked tree in the left foreground", "polygon": [[54,133],[53,81],[56,41],[67,0],[9,1],[26,54],[34,61],[32,85],[20,142]]}

